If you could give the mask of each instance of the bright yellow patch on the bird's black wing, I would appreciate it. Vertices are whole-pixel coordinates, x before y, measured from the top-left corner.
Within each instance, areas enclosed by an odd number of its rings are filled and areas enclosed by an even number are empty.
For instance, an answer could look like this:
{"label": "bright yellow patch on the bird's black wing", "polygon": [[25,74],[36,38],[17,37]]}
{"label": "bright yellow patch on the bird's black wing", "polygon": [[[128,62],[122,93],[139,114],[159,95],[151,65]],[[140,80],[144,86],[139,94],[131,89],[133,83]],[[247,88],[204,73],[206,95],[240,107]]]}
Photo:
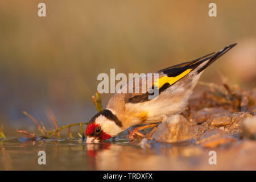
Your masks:
{"label": "bright yellow patch on the bird's black wing", "polygon": [[168,83],[170,85],[174,84],[176,81],[180,80],[184,76],[188,75],[192,69],[187,69],[186,71],[180,73],[180,75],[175,76],[175,77],[168,77],[168,76],[163,76],[162,78],[159,78],[157,81],[154,82],[155,86],[158,86],[158,88],[161,88],[164,84]]}

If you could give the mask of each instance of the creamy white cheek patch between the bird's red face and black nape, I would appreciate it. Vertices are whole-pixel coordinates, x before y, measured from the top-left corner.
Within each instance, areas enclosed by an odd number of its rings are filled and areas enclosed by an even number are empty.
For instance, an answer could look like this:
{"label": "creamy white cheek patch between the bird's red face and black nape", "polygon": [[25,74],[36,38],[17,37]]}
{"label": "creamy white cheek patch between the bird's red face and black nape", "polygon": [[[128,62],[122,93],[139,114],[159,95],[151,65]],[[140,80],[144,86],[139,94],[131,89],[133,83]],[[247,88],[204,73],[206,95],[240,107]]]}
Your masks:
{"label": "creamy white cheek patch between the bird's red face and black nape", "polygon": [[122,131],[121,127],[117,126],[114,121],[109,120],[104,115],[100,115],[95,119],[96,125],[100,125],[102,131],[106,134],[111,135],[114,137],[118,133]]}

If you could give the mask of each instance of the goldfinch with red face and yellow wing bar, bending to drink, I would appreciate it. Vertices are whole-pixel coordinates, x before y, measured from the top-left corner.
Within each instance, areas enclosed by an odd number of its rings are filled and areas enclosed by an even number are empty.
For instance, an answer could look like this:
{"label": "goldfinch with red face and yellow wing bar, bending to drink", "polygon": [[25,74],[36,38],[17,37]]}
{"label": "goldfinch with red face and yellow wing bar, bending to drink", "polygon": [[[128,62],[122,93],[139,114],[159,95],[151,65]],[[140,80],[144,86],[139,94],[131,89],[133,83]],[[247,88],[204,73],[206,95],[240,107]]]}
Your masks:
{"label": "goldfinch with red face and yellow wing bar, bending to drink", "polygon": [[[181,113],[187,107],[193,88],[204,69],[234,46],[236,43],[217,53],[162,69],[156,72],[157,80],[143,75],[129,81],[134,83],[132,85],[142,85],[143,80],[147,80],[147,83],[151,81],[152,84],[147,85],[146,93],[132,93],[129,91],[134,91],[134,87],[130,88],[128,82],[121,88],[122,92],[115,93],[106,109],[90,119],[85,132],[86,143],[106,140],[134,125],[156,126],[155,123],[161,122],[164,117]],[[151,100],[148,98],[152,95],[150,89],[158,89],[158,96]],[[134,131],[139,134],[138,130]]]}

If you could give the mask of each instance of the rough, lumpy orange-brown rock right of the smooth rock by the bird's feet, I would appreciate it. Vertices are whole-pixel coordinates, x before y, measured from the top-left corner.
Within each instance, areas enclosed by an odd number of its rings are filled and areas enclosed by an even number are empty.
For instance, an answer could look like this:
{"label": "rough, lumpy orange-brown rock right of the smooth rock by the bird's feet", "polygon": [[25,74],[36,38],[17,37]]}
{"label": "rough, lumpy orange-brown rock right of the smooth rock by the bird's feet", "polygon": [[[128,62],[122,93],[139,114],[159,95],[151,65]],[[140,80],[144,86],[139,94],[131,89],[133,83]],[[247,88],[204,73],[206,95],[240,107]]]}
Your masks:
{"label": "rough, lumpy orange-brown rock right of the smooth rock by the bird's feet", "polygon": [[226,133],[240,135],[242,121],[246,118],[251,118],[252,116],[253,115],[249,112],[218,115],[201,124],[199,133],[204,133],[207,130],[218,129],[221,127]]}

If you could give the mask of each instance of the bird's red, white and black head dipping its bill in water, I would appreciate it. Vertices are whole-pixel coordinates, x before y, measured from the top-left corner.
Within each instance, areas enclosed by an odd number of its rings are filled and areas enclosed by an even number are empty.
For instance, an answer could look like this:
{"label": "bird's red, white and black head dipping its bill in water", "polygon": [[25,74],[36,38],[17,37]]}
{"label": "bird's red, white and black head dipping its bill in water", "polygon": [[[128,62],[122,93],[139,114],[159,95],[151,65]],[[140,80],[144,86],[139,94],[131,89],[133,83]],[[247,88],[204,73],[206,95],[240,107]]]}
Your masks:
{"label": "bird's red, white and black head dipping its bill in water", "polygon": [[86,143],[98,143],[114,137],[122,131],[122,123],[108,109],[104,109],[90,119],[85,131]]}

